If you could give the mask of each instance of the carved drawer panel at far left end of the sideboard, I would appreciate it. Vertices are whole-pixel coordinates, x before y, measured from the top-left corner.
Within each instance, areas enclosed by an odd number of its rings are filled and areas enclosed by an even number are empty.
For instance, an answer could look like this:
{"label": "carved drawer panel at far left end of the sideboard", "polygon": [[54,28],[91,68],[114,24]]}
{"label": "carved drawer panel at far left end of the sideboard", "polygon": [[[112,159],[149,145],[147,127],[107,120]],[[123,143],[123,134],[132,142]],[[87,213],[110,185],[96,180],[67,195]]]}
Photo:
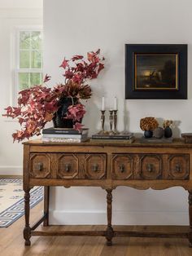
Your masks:
{"label": "carved drawer panel at far left end of the sideboard", "polygon": [[30,157],[30,177],[51,178],[50,154],[33,154]]}

